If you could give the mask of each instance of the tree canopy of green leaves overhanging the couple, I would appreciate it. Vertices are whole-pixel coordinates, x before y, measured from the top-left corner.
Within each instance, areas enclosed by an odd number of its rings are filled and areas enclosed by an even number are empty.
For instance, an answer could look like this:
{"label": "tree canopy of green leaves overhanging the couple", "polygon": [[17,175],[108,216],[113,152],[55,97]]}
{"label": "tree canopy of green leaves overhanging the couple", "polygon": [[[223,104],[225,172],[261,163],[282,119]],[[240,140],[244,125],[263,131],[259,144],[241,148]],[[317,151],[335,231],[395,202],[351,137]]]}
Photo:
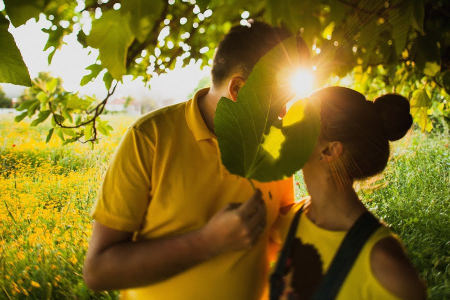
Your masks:
{"label": "tree canopy of green leaves overhanging the couple", "polygon": [[[91,73],[80,83],[103,74],[109,92],[125,74],[147,81],[189,59],[209,63],[223,34],[232,25],[247,25],[247,19],[253,18],[302,35],[312,49],[318,86],[331,80],[371,97],[401,93],[414,105],[427,105],[414,110],[415,120],[423,129],[432,127],[427,115],[434,102],[437,109],[448,109],[448,1],[4,0],[4,4],[3,13],[14,26],[40,13],[52,22],[50,28],[43,29],[48,33],[45,48],[52,49],[49,61],[62,45],[62,37],[69,33],[76,34],[83,46],[98,48],[101,64],[87,67]],[[1,28],[3,45],[11,36],[4,26]],[[28,84],[18,51],[11,46],[2,53],[9,60],[0,61],[10,61],[8,67],[20,75],[15,83]],[[2,63],[0,81],[11,82],[2,71]],[[107,71],[101,72],[103,69]],[[340,80],[346,76],[353,78],[351,82]],[[431,101],[418,100],[423,92],[415,90],[425,92]],[[64,103],[59,105],[66,109]],[[41,108],[50,110],[40,106],[36,113]],[[100,110],[91,116],[95,118]]]}

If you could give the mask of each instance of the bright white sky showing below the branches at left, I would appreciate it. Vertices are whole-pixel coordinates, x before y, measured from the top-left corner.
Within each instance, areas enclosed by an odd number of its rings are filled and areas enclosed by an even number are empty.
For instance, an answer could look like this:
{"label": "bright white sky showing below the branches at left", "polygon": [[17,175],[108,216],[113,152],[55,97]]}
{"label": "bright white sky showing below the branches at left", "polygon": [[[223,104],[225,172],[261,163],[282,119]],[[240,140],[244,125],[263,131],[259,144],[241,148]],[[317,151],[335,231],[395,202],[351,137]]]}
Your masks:
{"label": "bright white sky showing below the branches at left", "polygon": [[[0,10],[3,8],[0,0]],[[48,28],[49,21],[43,14],[36,22],[34,18],[28,20],[19,27],[9,26],[9,32],[14,36],[14,40],[22,53],[23,60],[28,67],[30,76],[36,77],[39,71],[49,71],[54,77],[61,77],[63,87],[68,91],[79,91],[80,94],[95,95],[104,97],[106,89],[103,80],[96,79],[84,86],[79,86],[81,78],[88,74],[85,68],[95,63],[98,50],[93,48],[83,48],[76,40],[76,36],[69,34],[64,37],[65,44],[56,50],[51,64],[47,63],[47,56],[50,49],[43,51],[48,34],[41,31],[41,28]],[[159,105],[168,105],[175,102],[187,100],[187,96],[197,86],[198,81],[209,75],[209,66],[199,67],[192,59],[188,65],[176,68],[169,73],[161,74],[149,80],[151,89],[145,86],[141,80],[131,80],[132,76],[124,76],[123,84],[117,86],[116,91],[111,96],[112,99],[132,96],[136,100],[151,98]],[[100,76],[101,77],[101,74]],[[23,91],[23,86],[0,83],[3,90],[10,97],[17,97]],[[176,88],[173,88],[176,86]]]}

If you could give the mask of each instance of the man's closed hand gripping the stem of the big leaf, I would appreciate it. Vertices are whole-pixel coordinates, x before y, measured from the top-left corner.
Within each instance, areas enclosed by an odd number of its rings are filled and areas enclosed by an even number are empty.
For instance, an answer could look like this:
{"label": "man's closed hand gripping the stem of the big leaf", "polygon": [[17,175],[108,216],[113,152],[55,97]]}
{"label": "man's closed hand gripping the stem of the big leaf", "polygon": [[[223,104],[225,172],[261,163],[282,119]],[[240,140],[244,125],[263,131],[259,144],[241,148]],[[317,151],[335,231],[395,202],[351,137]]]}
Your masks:
{"label": "man's closed hand gripping the stem of the big leaf", "polygon": [[266,209],[257,189],[244,203],[230,203],[202,228],[211,256],[254,245],[264,230]]}

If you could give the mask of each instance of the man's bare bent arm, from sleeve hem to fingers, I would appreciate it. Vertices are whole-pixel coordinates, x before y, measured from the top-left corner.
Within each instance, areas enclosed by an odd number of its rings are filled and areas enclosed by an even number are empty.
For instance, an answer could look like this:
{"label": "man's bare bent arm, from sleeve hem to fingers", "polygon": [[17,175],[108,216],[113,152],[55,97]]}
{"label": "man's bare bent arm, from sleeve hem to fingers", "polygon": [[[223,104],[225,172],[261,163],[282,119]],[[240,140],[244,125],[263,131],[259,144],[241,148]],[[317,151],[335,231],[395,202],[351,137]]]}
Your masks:
{"label": "man's bare bent arm, from sleeve hem to fingers", "polygon": [[177,236],[132,241],[132,232],[95,221],[84,281],[94,290],[156,283],[220,253],[250,247],[264,226],[265,206],[259,190],[246,202],[218,211],[201,229]]}

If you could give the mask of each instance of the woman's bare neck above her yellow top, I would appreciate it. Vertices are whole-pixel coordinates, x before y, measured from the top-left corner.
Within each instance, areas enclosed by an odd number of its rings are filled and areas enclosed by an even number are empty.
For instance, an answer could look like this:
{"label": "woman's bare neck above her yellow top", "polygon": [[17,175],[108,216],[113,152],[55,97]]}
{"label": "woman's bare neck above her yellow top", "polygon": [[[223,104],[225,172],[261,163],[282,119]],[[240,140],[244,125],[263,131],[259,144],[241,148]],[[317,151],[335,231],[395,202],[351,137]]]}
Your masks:
{"label": "woman's bare neck above her yellow top", "polygon": [[337,187],[334,181],[322,182],[308,189],[311,204],[307,217],[317,226],[328,230],[348,230],[366,211],[352,186]]}

